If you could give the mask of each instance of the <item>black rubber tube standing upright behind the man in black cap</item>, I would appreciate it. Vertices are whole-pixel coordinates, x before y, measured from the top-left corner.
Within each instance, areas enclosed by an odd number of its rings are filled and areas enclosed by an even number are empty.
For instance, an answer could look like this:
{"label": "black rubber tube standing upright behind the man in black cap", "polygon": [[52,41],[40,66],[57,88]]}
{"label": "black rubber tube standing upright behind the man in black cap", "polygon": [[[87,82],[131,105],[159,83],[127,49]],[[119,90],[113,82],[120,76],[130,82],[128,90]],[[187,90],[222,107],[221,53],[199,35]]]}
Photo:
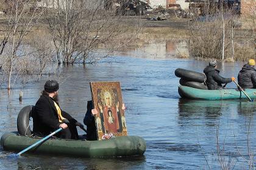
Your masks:
{"label": "black rubber tube standing upright behind the man in black cap", "polygon": [[17,117],[17,128],[21,136],[30,136],[32,132],[29,126],[29,118],[31,117],[31,111],[34,106],[29,105],[23,107]]}

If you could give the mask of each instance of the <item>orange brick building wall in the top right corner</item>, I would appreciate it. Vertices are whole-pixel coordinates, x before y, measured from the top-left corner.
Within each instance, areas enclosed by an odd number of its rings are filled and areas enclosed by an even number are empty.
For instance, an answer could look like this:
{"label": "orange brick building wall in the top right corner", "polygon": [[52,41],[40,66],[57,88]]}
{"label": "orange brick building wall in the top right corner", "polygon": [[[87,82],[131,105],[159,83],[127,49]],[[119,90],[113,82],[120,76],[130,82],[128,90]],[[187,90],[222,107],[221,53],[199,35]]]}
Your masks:
{"label": "orange brick building wall in the top right corner", "polygon": [[256,0],[241,0],[241,15],[254,15],[256,18]]}

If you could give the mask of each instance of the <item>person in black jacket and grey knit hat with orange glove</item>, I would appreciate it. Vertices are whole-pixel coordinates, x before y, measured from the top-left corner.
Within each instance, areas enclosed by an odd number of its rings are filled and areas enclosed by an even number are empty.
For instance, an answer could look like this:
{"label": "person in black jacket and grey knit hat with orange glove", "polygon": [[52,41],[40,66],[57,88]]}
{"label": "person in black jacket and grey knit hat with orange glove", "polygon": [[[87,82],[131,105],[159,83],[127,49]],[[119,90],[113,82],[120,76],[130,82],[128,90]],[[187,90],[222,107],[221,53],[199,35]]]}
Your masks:
{"label": "person in black jacket and grey knit hat with orange glove", "polygon": [[235,81],[235,77],[224,78],[219,75],[219,70],[217,68],[217,61],[211,60],[209,66],[205,67],[204,73],[206,75],[206,85],[208,90],[218,90],[222,89],[222,84],[230,83]]}

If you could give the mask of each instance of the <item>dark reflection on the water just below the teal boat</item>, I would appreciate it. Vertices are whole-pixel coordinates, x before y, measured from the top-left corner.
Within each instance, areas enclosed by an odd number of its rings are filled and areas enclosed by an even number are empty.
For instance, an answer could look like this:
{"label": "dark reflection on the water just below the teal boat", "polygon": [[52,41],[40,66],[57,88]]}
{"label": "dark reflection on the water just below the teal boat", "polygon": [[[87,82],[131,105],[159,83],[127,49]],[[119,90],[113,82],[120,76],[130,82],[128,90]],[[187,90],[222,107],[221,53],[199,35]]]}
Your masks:
{"label": "dark reflection on the water just below the teal boat", "polygon": [[[256,104],[246,100],[188,100],[179,99],[179,124],[190,126],[191,122],[201,120],[205,126],[219,125],[221,117],[233,120],[251,119],[256,111]],[[224,115],[223,115],[224,114]],[[241,118],[240,118],[241,117]],[[236,124],[237,122],[235,122]],[[240,126],[237,123],[235,126]]]}

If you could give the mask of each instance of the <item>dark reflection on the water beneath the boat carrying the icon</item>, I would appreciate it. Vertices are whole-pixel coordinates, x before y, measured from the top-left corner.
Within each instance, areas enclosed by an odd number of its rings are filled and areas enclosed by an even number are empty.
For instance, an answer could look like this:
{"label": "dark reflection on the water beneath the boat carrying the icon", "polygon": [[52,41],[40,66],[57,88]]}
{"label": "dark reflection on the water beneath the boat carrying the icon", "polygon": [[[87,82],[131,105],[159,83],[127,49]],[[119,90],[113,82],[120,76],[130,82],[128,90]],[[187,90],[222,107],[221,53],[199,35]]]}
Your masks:
{"label": "dark reflection on the water beneath the boat carrying the icon", "polygon": [[[44,162],[40,162],[43,158]],[[132,163],[132,161],[136,163]],[[76,165],[73,162],[76,161]],[[138,164],[145,163],[145,157],[127,158],[69,158],[65,157],[46,157],[40,158],[27,156],[18,158],[17,169],[138,169]],[[47,166],[45,166],[47,164]],[[12,165],[13,166],[13,165]],[[143,166],[140,166],[143,168]]]}

